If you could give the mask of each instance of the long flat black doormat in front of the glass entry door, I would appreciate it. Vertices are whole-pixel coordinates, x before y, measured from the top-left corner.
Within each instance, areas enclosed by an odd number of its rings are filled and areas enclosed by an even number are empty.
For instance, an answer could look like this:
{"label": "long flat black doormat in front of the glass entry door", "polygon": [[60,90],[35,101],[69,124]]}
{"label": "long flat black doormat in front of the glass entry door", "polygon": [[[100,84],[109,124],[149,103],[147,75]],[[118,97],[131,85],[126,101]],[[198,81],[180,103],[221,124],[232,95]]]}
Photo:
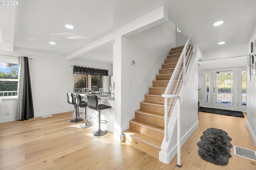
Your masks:
{"label": "long flat black doormat in front of the glass entry door", "polygon": [[214,108],[207,108],[207,107],[200,107],[199,111],[206,112],[206,113],[214,113],[218,115],[227,115],[227,116],[244,118],[244,114],[241,111],[230,111],[230,110],[214,109]]}

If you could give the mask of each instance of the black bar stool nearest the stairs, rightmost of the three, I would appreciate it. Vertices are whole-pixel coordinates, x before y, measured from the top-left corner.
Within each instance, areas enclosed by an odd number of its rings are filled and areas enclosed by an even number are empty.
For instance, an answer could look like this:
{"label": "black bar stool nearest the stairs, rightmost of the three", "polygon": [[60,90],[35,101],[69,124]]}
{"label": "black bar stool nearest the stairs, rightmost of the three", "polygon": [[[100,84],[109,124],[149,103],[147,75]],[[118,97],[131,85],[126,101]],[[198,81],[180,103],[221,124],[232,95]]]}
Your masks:
{"label": "black bar stool nearest the stairs, rightmost of the three", "polygon": [[[100,124],[101,123],[107,123],[107,121],[101,120],[100,119],[100,115],[101,115],[101,111],[106,110],[106,109],[111,109],[111,106],[108,105],[103,105],[100,104],[98,105],[98,96],[96,95],[87,95],[87,105],[90,109],[96,110],[99,112],[99,119],[98,119],[98,123],[99,123],[99,130],[95,130],[92,132],[92,134],[94,136],[102,136],[104,134],[107,133],[107,130],[101,130],[100,129]],[[103,121],[103,122],[102,122]]]}

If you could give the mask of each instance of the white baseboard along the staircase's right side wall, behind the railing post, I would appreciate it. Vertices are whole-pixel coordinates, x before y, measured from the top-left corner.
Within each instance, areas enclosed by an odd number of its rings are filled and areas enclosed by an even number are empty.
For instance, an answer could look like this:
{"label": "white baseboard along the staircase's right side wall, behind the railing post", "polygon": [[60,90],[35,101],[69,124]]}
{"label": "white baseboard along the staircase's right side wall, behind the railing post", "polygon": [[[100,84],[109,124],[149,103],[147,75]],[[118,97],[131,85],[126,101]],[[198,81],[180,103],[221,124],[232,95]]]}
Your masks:
{"label": "white baseboard along the staircase's right side wall, behind the railing post", "polygon": [[[199,121],[196,121],[196,123],[190,128],[190,130],[188,130],[188,132],[182,137],[181,146],[183,146],[183,144],[188,140],[188,138],[196,130],[198,125],[199,125]],[[164,162],[165,164],[169,164],[176,154],[177,154],[177,144],[175,147],[172,148],[172,150],[168,154],[165,154],[164,152],[160,151],[159,152],[159,160],[161,162]]]}

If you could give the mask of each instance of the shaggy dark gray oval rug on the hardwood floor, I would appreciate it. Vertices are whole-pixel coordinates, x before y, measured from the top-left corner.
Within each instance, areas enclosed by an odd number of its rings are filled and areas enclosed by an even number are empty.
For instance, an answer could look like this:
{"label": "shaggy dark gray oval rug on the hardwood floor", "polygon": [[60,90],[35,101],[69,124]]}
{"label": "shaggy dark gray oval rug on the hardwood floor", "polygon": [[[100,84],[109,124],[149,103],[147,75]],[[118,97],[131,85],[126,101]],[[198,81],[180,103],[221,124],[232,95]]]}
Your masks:
{"label": "shaggy dark gray oval rug on the hardwood floor", "polygon": [[197,143],[201,158],[216,165],[226,166],[232,157],[230,154],[232,138],[227,132],[217,128],[208,128],[203,134]]}

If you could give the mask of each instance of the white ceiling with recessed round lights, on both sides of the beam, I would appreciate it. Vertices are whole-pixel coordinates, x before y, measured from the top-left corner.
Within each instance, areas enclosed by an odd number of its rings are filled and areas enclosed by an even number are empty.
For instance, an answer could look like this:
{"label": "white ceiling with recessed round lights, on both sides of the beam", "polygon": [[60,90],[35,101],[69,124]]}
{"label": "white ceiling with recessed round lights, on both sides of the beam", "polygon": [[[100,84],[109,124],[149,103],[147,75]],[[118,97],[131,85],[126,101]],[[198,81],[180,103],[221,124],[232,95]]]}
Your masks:
{"label": "white ceiling with recessed round lights, on both sides of the beam", "polygon": [[[64,59],[161,6],[202,51],[246,45],[256,24],[256,0],[20,0],[0,6],[0,51],[33,49]],[[219,20],[224,24],[213,27]],[[79,58],[111,63],[112,45]]]}

